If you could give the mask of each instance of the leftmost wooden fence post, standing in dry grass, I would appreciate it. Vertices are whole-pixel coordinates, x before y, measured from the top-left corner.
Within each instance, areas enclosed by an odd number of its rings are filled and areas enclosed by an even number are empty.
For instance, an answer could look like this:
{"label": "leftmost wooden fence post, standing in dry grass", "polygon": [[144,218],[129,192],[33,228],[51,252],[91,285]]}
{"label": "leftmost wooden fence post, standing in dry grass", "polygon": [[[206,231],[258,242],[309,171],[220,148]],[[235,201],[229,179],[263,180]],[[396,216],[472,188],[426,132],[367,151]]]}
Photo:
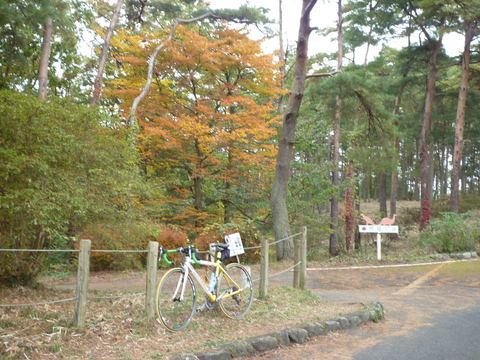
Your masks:
{"label": "leftmost wooden fence post, standing in dry grass", "polygon": [[80,254],[78,255],[77,273],[77,302],[75,305],[74,325],[80,328],[85,327],[87,314],[88,278],[90,276],[90,251],[92,242],[80,240]]}

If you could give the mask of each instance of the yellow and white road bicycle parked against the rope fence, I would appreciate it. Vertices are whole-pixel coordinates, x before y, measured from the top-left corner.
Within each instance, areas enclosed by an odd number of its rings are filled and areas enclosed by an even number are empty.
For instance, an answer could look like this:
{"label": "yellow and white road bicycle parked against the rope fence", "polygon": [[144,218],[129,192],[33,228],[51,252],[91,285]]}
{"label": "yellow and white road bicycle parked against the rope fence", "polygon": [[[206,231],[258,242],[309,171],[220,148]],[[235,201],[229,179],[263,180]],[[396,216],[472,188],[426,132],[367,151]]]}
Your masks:
{"label": "yellow and white road bicycle parked against the rope fence", "polygon": [[[157,317],[169,331],[184,329],[192,320],[196,311],[214,309],[217,304],[222,312],[231,319],[244,316],[253,301],[252,279],[247,269],[238,263],[224,265],[229,257],[228,244],[212,244],[215,248],[215,261],[202,260],[197,249],[187,247],[166,250],[160,247],[159,261],[163,258],[172,264],[168,254],[182,254],[179,267],[168,270],[158,283],[155,296]],[[193,264],[204,265],[211,270],[210,284],[207,276],[202,278]],[[205,292],[205,304],[196,308],[197,292],[192,276]]]}

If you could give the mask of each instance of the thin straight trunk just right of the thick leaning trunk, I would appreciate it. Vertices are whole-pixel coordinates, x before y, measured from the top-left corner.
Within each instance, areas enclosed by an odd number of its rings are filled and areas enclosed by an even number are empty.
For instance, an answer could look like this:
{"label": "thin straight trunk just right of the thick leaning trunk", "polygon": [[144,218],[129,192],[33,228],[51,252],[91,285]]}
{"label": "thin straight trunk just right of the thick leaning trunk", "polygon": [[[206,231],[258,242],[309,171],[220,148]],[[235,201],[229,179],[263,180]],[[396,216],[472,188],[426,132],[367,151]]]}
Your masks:
{"label": "thin straight trunk just right of the thick leaning trunk", "polygon": [[[342,0],[338,0],[338,55],[337,55],[337,71],[341,72],[343,68],[343,11]],[[333,174],[332,185],[338,188],[338,171],[340,164],[340,119],[342,116],[343,99],[337,96],[335,100],[335,124],[333,127]],[[330,200],[332,207],[330,209],[330,255],[338,255],[338,198],[332,197]]]}

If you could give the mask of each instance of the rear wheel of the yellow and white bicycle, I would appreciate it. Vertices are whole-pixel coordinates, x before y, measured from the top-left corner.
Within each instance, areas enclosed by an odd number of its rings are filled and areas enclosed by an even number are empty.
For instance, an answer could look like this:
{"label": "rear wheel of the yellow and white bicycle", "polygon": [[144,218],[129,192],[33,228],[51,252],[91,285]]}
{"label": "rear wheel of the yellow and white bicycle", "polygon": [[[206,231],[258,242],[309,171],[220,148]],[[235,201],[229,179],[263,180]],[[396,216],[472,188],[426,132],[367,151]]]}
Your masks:
{"label": "rear wheel of the yellow and white bicycle", "polygon": [[[235,292],[238,293],[228,296]],[[217,294],[221,296],[219,305],[225,315],[232,319],[245,315],[253,301],[252,278],[247,269],[240,264],[227,265],[226,274],[218,282]]]}

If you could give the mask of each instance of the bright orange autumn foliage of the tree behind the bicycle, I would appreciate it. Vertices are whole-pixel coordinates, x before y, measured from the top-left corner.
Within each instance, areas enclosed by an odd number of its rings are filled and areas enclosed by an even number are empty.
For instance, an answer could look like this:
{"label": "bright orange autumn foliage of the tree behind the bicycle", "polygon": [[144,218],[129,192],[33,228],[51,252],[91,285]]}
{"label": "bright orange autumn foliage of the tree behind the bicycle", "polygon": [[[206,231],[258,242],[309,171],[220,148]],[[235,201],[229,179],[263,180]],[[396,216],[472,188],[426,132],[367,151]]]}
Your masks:
{"label": "bright orange autumn foliage of the tree behind the bicycle", "polygon": [[[107,92],[126,115],[143,86],[148,55],[162,40],[117,36],[122,71]],[[163,201],[171,211],[163,220],[197,232],[231,220],[235,209],[253,211],[246,203],[261,198],[273,177],[279,65],[261,41],[238,30],[178,28],[157,57],[137,115],[145,168],[167,186]]]}

